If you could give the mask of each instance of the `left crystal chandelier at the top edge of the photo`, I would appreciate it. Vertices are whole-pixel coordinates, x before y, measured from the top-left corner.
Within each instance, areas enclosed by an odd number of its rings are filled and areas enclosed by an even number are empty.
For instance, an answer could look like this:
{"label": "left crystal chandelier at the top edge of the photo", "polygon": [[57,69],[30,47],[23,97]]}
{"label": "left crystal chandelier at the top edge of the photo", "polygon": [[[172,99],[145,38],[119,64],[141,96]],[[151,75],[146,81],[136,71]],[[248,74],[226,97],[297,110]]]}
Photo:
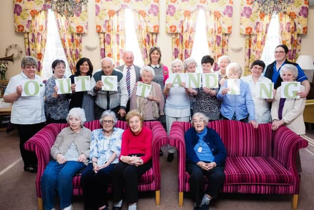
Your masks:
{"label": "left crystal chandelier at the top edge of the photo", "polygon": [[53,11],[59,12],[62,16],[73,17],[76,13],[81,13],[82,7],[88,0],[45,0],[51,5]]}

